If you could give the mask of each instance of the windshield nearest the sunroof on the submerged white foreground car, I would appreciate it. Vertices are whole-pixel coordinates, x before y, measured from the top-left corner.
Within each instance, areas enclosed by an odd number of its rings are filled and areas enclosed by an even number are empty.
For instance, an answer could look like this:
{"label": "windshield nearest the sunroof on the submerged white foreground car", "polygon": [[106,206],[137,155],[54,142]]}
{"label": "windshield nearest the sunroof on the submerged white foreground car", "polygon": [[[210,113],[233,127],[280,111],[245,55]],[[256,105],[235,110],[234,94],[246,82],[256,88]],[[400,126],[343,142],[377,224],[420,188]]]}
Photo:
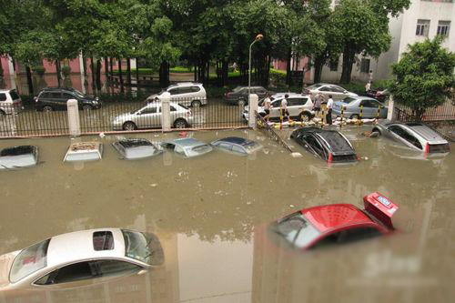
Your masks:
{"label": "windshield nearest the sunroof on the submerged white foreground car", "polygon": [[125,256],[149,265],[161,265],[164,254],[157,236],[132,230],[122,230]]}

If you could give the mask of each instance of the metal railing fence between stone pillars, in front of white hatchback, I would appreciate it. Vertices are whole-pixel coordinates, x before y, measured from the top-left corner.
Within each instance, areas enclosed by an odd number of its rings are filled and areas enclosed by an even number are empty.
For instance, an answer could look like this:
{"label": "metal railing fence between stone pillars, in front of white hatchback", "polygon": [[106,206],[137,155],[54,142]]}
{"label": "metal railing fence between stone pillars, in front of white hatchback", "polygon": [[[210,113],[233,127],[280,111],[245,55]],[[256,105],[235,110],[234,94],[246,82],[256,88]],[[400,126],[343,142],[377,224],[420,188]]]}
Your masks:
{"label": "metal railing fence between stone pillars, in front of white hatchback", "polygon": [[[191,103],[191,99],[171,101],[171,127],[221,129],[247,127],[243,106],[227,105],[223,100]],[[190,105],[190,106],[186,106]],[[57,107],[57,106],[54,106]],[[158,102],[106,102],[99,109],[83,110],[79,120],[82,134],[114,131],[161,130]],[[66,105],[37,111],[35,105],[0,107],[0,137],[68,135]],[[182,121],[186,123],[183,124]],[[180,123],[178,123],[180,121]]]}

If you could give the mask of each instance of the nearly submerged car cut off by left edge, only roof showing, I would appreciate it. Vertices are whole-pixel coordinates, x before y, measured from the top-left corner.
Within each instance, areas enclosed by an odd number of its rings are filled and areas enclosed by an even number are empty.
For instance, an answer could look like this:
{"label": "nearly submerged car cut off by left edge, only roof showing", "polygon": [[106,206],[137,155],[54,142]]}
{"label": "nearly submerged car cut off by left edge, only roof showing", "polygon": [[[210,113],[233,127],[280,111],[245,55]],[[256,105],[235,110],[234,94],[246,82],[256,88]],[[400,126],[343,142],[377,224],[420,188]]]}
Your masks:
{"label": "nearly submerged car cut off by left edge, only roof showing", "polygon": [[0,169],[33,167],[38,163],[38,147],[14,146],[0,150]]}

